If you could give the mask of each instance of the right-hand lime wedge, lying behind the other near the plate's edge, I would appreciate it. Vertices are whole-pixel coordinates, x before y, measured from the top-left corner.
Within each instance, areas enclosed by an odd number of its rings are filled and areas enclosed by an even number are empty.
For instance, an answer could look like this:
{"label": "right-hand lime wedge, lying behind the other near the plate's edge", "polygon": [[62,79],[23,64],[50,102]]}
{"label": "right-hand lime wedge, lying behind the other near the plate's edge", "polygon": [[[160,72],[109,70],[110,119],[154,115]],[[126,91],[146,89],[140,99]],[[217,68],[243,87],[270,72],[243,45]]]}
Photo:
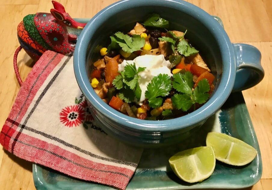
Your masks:
{"label": "right-hand lime wedge, lying behind the other near the plate's edge", "polygon": [[208,133],[206,145],[212,146],[217,160],[234,166],[246,165],[257,155],[252,146],[223,133]]}

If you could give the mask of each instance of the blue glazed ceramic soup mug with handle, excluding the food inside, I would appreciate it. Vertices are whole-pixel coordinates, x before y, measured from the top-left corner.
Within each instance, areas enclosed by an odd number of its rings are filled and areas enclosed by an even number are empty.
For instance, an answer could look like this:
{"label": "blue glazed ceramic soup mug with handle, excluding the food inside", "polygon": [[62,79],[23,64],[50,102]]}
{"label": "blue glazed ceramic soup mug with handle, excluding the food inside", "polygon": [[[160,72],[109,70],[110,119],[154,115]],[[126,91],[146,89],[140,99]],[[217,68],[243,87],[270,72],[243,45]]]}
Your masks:
{"label": "blue glazed ceramic soup mug with handle, excluding the food inside", "polygon": [[[109,44],[110,35],[130,30],[150,13],[158,13],[168,20],[170,29],[187,29],[186,37],[205,56],[216,76],[215,91],[209,101],[180,118],[164,121],[131,118],[104,103],[89,82],[99,46]],[[223,105],[233,90],[243,90],[260,82],[264,77],[260,60],[258,49],[246,44],[232,44],[218,20],[190,3],[123,0],[97,13],[82,30],[74,54],[74,71],[96,124],[106,133],[134,146],[160,146],[189,136],[192,129],[199,128]]]}

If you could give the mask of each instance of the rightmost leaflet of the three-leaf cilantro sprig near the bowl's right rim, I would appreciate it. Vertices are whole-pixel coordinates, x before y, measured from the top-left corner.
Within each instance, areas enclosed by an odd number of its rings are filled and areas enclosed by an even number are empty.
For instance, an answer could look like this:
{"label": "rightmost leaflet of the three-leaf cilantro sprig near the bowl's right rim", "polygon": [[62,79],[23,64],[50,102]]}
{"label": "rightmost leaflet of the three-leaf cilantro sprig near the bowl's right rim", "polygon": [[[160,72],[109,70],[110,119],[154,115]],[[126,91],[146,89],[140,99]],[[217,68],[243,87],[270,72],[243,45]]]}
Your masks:
{"label": "rightmost leaflet of the three-leaf cilantro sprig near the bowl's right rim", "polygon": [[210,90],[210,85],[206,78],[199,81],[199,83],[197,84],[197,87],[193,91],[195,102],[199,104],[205,103],[210,97],[208,93],[209,90]]}

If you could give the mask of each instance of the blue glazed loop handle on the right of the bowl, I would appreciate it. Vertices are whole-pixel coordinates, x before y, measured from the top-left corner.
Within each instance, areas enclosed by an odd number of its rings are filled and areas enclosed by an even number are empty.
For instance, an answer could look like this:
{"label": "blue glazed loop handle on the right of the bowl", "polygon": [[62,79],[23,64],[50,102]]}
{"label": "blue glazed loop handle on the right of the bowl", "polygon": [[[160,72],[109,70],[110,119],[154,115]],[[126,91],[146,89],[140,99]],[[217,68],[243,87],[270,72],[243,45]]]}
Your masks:
{"label": "blue glazed loop handle on the right of the bowl", "polygon": [[246,90],[261,82],[264,69],[261,52],[249,44],[233,44],[236,56],[236,77],[232,92]]}

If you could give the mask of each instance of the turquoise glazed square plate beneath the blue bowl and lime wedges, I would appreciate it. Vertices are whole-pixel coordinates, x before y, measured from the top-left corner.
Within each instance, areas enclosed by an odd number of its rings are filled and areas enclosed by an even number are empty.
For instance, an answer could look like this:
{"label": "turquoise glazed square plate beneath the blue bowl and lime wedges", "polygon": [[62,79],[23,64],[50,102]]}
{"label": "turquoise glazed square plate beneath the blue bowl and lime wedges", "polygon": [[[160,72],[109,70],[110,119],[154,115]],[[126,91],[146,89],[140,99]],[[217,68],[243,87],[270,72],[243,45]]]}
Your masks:
{"label": "turquoise glazed square plate beneath the blue bowl and lime wedges", "polygon": [[[196,146],[205,146],[210,131],[226,133],[253,146],[257,157],[246,166],[233,167],[216,161],[214,173],[201,183],[186,183],[172,172],[168,159],[176,152]],[[241,92],[232,93],[224,106],[211,116],[201,129],[187,140],[161,149],[146,149],[128,189],[209,189],[244,188],[254,185],[261,178],[261,153],[255,131]],[[64,174],[33,164],[33,178],[38,190],[66,189],[113,189],[108,186],[81,181]]]}

